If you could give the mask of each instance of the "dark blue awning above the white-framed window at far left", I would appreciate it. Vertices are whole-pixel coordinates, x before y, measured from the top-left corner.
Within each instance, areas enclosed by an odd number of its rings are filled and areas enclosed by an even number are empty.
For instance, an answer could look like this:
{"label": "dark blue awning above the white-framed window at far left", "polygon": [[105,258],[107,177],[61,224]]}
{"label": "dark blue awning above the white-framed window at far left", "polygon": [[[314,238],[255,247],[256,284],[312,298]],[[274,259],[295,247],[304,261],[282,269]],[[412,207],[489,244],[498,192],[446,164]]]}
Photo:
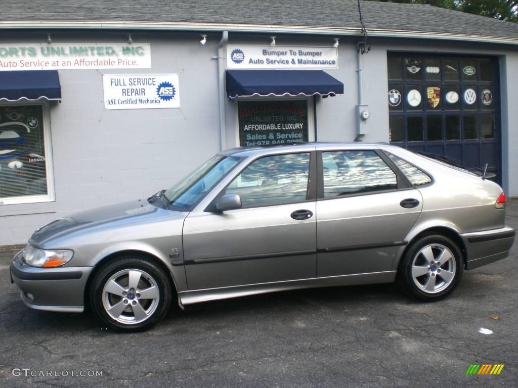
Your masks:
{"label": "dark blue awning above the white-framed window at far left", "polygon": [[61,100],[57,70],[0,71],[0,101]]}

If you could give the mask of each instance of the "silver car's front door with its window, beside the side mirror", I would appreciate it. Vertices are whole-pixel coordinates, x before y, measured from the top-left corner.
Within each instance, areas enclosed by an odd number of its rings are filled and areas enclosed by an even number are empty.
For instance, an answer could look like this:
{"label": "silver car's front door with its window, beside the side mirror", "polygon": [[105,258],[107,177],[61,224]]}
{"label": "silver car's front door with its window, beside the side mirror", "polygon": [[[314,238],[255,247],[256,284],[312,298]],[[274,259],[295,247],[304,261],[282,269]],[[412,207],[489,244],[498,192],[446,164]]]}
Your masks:
{"label": "silver car's front door with its window, beside the side mirror", "polygon": [[188,288],[315,277],[315,177],[315,152],[263,156],[223,190],[238,194],[242,208],[190,213],[183,228]]}

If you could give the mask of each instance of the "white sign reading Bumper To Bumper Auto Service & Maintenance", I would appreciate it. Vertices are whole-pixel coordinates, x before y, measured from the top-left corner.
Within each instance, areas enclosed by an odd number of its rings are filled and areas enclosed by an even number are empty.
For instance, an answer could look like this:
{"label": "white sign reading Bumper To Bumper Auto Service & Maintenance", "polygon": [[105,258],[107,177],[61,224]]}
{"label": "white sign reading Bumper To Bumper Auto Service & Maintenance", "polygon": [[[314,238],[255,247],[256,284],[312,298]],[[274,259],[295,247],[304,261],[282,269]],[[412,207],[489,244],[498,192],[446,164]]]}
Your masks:
{"label": "white sign reading Bumper To Bumper Auto Service & Maintenance", "polygon": [[334,47],[246,46],[227,44],[228,69],[336,69]]}

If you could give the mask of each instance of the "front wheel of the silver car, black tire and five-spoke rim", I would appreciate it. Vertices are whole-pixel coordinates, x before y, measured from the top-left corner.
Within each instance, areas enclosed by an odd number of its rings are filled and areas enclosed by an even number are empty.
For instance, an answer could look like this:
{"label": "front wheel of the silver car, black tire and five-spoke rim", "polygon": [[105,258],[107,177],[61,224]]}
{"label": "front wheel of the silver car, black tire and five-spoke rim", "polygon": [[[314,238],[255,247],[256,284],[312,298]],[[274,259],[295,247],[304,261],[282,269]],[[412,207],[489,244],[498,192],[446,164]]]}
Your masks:
{"label": "front wheel of the silver car, black tire and five-spoke rim", "polygon": [[[127,284],[124,285],[125,271],[127,271]],[[140,274],[134,291],[129,288],[130,271],[132,274]],[[121,274],[117,284],[125,290],[125,295],[117,295],[112,293],[105,293],[105,285],[113,276]],[[110,283],[111,284],[111,283]],[[139,290],[153,289],[153,299],[140,298]],[[119,299],[120,298],[120,299]],[[125,301],[124,301],[125,300]],[[113,308],[116,304],[124,302],[124,310],[119,315],[118,319],[114,319],[107,311],[107,308]],[[120,332],[136,332],[149,329],[162,319],[169,310],[171,303],[171,285],[167,274],[162,268],[155,264],[152,260],[141,258],[138,256],[123,256],[112,261],[107,262],[98,269],[94,278],[92,279],[90,287],[90,306],[95,317],[102,323],[104,327],[110,327],[113,330]],[[135,308],[141,307],[140,311],[148,311],[149,315],[143,315],[142,321],[139,321]],[[138,304],[138,306],[137,306]],[[123,307],[120,305],[121,308]],[[149,306],[149,307],[147,307]],[[147,310],[146,310],[147,309]],[[112,315],[117,315],[116,310],[112,310]],[[133,316],[133,318],[132,318]],[[132,322],[131,320],[134,320]]]}

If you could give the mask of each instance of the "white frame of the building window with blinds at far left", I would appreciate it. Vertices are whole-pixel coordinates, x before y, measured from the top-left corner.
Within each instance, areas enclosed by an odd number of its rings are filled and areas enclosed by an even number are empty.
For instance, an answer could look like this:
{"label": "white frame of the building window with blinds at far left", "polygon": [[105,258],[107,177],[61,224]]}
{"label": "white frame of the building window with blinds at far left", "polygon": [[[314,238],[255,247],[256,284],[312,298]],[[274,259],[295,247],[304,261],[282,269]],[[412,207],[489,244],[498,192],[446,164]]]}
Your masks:
{"label": "white frame of the building window with blinds at far left", "polygon": [[0,205],[15,205],[24,203],[55,202],[54,163],[52,156],[52,137],[50,130],[50,103],[49,101],[0,101],[0,107],[41,106],[43,120],[43,140],[45,144],[45,174],[47,179],[47,194],[0,197]]}

